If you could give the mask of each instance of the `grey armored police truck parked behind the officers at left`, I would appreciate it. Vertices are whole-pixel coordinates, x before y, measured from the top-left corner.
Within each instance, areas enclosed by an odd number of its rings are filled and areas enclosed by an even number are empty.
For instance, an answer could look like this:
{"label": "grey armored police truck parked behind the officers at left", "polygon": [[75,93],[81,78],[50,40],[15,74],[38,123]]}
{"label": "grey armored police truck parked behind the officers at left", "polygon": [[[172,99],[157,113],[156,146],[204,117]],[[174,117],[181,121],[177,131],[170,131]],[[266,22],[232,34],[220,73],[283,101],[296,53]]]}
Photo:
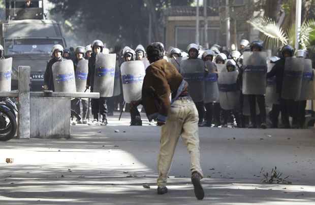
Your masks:
{"label": "grey armored police truck parked behind the officers at left", "polygon": [[1,22],[0,38],[5,57],[13,58],[12,90],[17,90],[18,66],[30,66],[31,91],[40,91],[44,84],[47,61],[55,44],[66,47],[60,25],[47,20],[43,1],[6,0],[6,18]]}

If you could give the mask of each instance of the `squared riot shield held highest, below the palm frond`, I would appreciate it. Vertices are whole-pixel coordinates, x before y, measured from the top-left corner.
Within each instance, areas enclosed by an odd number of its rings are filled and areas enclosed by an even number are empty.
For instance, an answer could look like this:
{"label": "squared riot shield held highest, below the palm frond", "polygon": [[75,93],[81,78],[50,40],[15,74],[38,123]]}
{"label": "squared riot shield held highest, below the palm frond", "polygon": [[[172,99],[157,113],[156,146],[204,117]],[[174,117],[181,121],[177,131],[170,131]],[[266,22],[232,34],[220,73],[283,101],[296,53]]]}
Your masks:
{"label": "squared riot shield held highest, below the palm frond", "polygon": [[267,84],[267,53],[244,52],[243,56],[243,94],[265,95]]}

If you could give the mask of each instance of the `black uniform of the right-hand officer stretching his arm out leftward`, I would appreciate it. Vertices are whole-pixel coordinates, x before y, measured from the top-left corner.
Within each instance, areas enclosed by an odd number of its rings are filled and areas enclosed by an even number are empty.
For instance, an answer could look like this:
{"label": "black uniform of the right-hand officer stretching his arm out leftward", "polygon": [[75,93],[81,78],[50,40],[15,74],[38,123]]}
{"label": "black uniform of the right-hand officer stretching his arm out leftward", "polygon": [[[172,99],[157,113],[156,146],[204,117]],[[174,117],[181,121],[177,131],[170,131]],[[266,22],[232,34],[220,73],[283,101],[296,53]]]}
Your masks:
{"label": "black uniform of the right-hand officer stretching his arm out leftward", "polygon": [[[276,61],[271,71],[267,73],[267,78],[276,76],[276,92],[279,94],[279,96],[281,96],[281,92],[282,92],[282,82],[283,82],[283,76],[285,72],[285,63],[286,63],[286,59],[281,58],[280,60]],[[273,127],[277,127],[278,116],[281,111],[282,124],[285,126],[285,128],[290,128],[289,112],[288,112],[290,100],[285,100],[280,97],[279,101],[280,101],[280,105],[272,106]]]}

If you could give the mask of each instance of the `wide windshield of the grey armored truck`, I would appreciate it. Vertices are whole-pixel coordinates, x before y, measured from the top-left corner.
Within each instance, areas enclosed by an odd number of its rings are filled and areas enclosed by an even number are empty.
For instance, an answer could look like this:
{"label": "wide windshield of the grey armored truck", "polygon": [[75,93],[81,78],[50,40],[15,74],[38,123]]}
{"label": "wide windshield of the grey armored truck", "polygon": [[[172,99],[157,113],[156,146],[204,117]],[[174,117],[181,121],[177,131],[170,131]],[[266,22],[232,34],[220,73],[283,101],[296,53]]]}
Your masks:
{"label": "wide windshield of the grey armored truck", "polygon": [[53,45],[62,45],[61,39],[5,39],[6,55],[50,54]]}

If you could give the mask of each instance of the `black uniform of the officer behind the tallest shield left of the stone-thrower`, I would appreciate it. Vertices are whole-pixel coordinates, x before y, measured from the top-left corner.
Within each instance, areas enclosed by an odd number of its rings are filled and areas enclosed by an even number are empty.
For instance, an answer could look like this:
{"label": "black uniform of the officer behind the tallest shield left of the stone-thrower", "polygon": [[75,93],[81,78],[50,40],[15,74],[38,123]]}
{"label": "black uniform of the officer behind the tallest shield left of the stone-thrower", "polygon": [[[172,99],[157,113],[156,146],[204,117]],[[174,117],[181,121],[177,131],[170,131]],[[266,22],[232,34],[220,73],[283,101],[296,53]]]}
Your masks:
{"label": "black uniform of the officer behind the tallest shield left of the stone-thrower", "polygon": [[[94,86],[94,74],[95,74],[95,62],[96,54],[92,53],[91,57],[88,59],[88,73],[86,84],[90,86],[91,92],[93,92]],[[103,116],[103,121],[107,121],[107,104],[106,98],[100,97],[100,99],[91,99],[91,108],[94,119],[99,120],[99,112]]]}

